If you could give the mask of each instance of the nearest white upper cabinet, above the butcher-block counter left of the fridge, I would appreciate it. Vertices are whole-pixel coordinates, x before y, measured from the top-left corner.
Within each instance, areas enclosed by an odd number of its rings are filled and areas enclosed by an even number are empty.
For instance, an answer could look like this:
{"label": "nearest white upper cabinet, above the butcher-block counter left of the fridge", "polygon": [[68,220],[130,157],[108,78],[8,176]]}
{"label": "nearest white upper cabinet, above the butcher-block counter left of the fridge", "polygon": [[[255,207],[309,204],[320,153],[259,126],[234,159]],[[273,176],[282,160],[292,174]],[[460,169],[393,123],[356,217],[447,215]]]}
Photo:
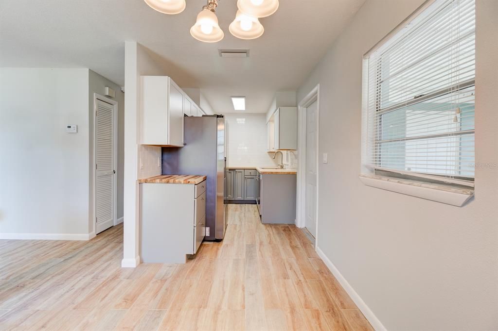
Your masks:
{"label": "nearest white upper cabinet, above the butcher-block counter left of the fridge", "polygon": [[140,144],[183,147],[184,95],[167,76],[140,77]]}

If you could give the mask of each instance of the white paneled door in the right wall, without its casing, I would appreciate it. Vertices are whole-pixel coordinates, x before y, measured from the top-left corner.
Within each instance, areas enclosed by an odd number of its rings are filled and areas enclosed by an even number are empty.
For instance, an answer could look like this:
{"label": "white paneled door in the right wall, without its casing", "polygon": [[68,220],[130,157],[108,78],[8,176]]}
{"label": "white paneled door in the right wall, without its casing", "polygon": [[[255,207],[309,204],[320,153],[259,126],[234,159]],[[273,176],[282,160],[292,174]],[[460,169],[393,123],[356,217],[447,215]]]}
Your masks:
{"label": "white paneled door in the right wall, without its casing", "polygon": [[317,102],[306,109],[306,204],[305,227],[316,237],[316,126]]}

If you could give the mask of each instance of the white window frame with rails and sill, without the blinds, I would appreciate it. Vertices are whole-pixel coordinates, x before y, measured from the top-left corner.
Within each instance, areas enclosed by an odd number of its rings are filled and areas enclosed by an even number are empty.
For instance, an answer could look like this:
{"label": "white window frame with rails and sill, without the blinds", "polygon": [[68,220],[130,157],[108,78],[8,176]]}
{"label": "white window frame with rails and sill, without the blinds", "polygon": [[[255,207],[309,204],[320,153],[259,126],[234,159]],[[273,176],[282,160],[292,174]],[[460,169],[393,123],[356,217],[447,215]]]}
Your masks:
{"label": "white window frame with rails and sill, without the blinds", "polygon": [[[395,191],[407,195],[417,196],[425,198],[428,200],[443,202],[455,206],[463,206],[467,203],[474,195],[474,179],[473,177],[467,176],[454,176],[449,178],[445,175],[431,174],[431,173],[420,173],[416,171],[403,171],[403,170],[393,170],[393,169],[382,169],[379,166],[372,166],[371,160],[374,160],[376,156],[369,150],[368,146],[373,146],[371,144],[378,144],[379,140],[378,134],[375,135],[369,132],[369,125],[381,125],[369,124],[369,117],[372,116],[369,111],[369,93],[370,91],[370,81],[369,79],[377,79],[378,71],[381,68],[374,70],[375,77],[369,77],[369,64],[372,59],[370,55],[375,52],[380,47],[384,46],[386,43],[392,43],[391,46],[395,45],[397,41],[392,41],[392,38],[403,28],[405,28],[410,22],[420,14],[426,15],[430,12],[425,12],[425,10],[432,5],[436,0],[428,0],[423,3],[419,8],[417,8],[410,16],[403,20],[395,29],[389,32],[384,38],[382,38],[377,44],[373,46],[363,57],[363,83],[362,83],[362,160],[361,160],[361,171],[360,179],[361,181],[373,187],[378,187],[390,191]],[[376,61],[381,61],[381,57],[375,59]],[[376,83],[375,86],[377,86]],[[471,80],[467,80],[464,83],[458,84],[458,89],[455,85],[445,86],[439,90],[431,90],[430,93],[422,94],[420,96],[415,96],[409,104],[416,104],[423,102],[424,100],[430,100],[432,98],[444,96],[455,91],[463,90],[476,85],[475,76]],[[381,93],[379,88],[375,89],[375,93]],[[380,97],[377,95],[375,98],[375,112],[381,111],[382,113],[387,113],[393,109],[399,109],[401,103],[396,103],[380,108]],[[403,105],[407,105],[407,102],[402,102]],[[471,132],[472,131],[472,132]],[[377,132],[381,132],[380,130]],[[468,131],[458,131],[456,135],[462,136],[465,134],[475,133],[475,127]],[[429,138],[437,136],[437,134],[428,134]],[[441,135],[441,136],[447,136]],[[406,139],[404,137],[403,139]],[[416,139],[416,138],[415,138]],[[420,139],[420,138],[418,138]],[[401,140],[401,139],[400,139]],[[381,143],[381,141],[380,141]],[[374,148],[374,151],[378,151]],[[376,153],[376,152],[375,152]]]}

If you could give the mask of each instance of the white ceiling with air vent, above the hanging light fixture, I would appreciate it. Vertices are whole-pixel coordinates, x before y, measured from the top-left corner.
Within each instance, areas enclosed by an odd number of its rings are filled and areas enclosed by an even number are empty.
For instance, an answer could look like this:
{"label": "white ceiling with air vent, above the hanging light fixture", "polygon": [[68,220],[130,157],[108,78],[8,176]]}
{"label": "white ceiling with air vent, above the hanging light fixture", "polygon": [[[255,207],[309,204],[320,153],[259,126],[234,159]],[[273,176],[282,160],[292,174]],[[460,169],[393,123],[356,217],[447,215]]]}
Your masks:
{"label": "white ceiling with air vent, above the hanging light fixture", "polygon": [[[264,34],[233,37],[235,0],[220,0],[225,38],[190,36],[205,0],[187,0],[165,15],[143,0],[0,0],[2,67],[83,67],[124,85],[124,41],[157,55],[182,87],[199,87],[215,112],[235,112],[231,95],[245,95],[246,112],[266,112],[275,91],[294,90],[365,0],[280,0],[261,18]],[[218,48],[249,48],[249,58],[220,58]]]}

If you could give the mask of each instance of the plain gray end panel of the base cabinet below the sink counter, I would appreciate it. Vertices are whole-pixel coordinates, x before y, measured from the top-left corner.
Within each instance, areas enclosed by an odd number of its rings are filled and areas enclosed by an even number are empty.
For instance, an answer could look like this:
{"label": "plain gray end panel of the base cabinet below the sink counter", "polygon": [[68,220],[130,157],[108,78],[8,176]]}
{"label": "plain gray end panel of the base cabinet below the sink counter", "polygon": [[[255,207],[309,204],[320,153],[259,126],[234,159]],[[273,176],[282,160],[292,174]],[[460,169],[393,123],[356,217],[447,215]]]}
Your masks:
{"label": "plain gray end panel of the base cabinet below the sink counter", "polygon": [[261,223],[296,223],[296,175],[261,174]]}

